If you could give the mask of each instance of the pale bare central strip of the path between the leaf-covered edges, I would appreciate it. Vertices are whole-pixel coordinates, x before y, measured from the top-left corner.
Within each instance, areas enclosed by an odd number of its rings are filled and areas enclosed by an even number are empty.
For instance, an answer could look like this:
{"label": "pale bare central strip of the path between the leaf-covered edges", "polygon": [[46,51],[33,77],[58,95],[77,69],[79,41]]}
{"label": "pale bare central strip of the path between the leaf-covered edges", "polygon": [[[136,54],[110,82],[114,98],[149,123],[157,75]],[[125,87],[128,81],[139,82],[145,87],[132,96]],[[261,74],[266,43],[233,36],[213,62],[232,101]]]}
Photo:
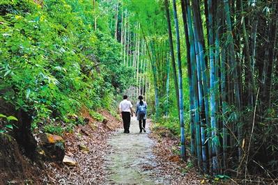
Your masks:
{"label": "pale bare central strip of the path between the leaf-covered edges", "polygon": [[155,177],[157,163],[148,127],[147,122],[147,132],[139,134],[138,122],[132,118],[130,134],[123,134],[123,129],[118,129],[109,138],[111,151],[106,160],[109,184],[167,184]]}

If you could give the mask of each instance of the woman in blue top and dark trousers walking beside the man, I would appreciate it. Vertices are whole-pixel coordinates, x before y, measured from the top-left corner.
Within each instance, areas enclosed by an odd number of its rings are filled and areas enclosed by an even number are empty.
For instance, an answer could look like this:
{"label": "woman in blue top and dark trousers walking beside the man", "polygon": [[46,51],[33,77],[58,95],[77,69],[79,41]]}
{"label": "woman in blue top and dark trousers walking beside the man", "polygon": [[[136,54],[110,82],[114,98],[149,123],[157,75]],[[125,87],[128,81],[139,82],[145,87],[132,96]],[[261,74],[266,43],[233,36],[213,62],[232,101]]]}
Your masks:
{"label": "woman in blue top and dark trousers walking beside the man", "polygon": [[[136,105],[136,112],[135,115],[137,117],[137,120],[139,121],[139,129],[140,133],[142,133],[142,130],[146,132],[146,118],[147,118],[147,103],[143,101],[143,96],[138,97],[139,102],[137,102]],[[142,127],[143,122],[143,127]]]}

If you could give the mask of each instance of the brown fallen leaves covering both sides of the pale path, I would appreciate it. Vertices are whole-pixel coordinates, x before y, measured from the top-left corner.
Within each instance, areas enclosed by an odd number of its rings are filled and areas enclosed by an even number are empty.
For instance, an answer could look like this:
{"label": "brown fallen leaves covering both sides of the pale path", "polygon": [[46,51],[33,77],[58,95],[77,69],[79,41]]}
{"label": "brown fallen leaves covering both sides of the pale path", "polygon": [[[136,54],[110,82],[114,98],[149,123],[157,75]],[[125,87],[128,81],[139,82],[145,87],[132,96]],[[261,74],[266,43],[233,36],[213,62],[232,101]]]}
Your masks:
{"label": "brown fallen leaves covering both sides of the pale path", "polygon": [[[45,162],[47,175],[40,177],[44,184],[116,184],[109,177],[115,172],[107,166],[107,156],[114,155],[114,148],[109,145],[109,137],[115,135],[116,129],[122,127],[122,123],[109,112],[102,111],[102,115],[108,120],[107,124],[95,121],[89,115],[83,115],[89,119],[88,124],[79,125],[73,133],[64,134],[65,155],[77,161],[77,166],[66,166],[63,163]],[[148,120],[149,121],[149,120]],[[121,130],[121,129],[120,129]],[[163,136],[153,129],[148,134],[153,140],[150,156],[141,156],[140,160],[153,160],[152,163],[125,163],[124,168],[137,168],[137,170],[155,184],[200,184],[201,175],[192,166],[190,161],[182,161],[176,154],[178,150],[178,138]],[[80,149],[85,146],[86,151]],[[136,154],[130,153],[132,157]],[[148,180],[147,180],[148,181]],[[152,184],[149,182],[134,184]]]}

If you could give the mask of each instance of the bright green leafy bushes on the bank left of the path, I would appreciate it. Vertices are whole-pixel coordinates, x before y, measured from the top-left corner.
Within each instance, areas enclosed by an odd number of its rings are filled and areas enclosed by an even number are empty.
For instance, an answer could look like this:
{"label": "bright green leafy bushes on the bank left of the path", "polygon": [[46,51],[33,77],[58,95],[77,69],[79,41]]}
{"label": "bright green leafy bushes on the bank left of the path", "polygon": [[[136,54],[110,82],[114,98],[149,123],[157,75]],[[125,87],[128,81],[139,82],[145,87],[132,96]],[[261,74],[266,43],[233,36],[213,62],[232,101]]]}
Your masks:
{"label": "bright green leafy bushes on the bank left of the path", "polygon": [[[129,86],[131,69],[121,65],[121,47],[108,33],[93,31],[88,3],[0,3],[0,97],[33,113],[33,127],[65,121],[82,106],[109,108],[115,90]],[[62,131],[59,125],[44,128]]]}

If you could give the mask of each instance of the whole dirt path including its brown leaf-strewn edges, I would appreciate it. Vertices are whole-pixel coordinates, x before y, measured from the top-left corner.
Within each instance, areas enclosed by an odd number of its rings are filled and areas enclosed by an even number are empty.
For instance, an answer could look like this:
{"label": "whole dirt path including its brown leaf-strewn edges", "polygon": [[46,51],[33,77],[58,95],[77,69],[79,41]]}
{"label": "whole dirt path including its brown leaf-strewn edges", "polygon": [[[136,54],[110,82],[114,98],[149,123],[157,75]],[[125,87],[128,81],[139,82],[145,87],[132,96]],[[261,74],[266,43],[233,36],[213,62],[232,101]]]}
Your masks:
{"label": "whole dirt path including its brown leaf-strewn edges", "polygon": [[[173,154],[178,140],[160,136],[160,130],[150,134],[149,122],[147,132],[139,134],[135,118],[130,134],[123,134],[122,128],[114,131],[121,122],[107,112],[102,114],[109,120],[107,124],[91,120],[63,136],[66,155],[77,165],[45,162],[47,172],[35,184],[200,184],[194,168],[187,168],[187,163]],[[86,145],[88,152],[80,150],[80,144]]]}

